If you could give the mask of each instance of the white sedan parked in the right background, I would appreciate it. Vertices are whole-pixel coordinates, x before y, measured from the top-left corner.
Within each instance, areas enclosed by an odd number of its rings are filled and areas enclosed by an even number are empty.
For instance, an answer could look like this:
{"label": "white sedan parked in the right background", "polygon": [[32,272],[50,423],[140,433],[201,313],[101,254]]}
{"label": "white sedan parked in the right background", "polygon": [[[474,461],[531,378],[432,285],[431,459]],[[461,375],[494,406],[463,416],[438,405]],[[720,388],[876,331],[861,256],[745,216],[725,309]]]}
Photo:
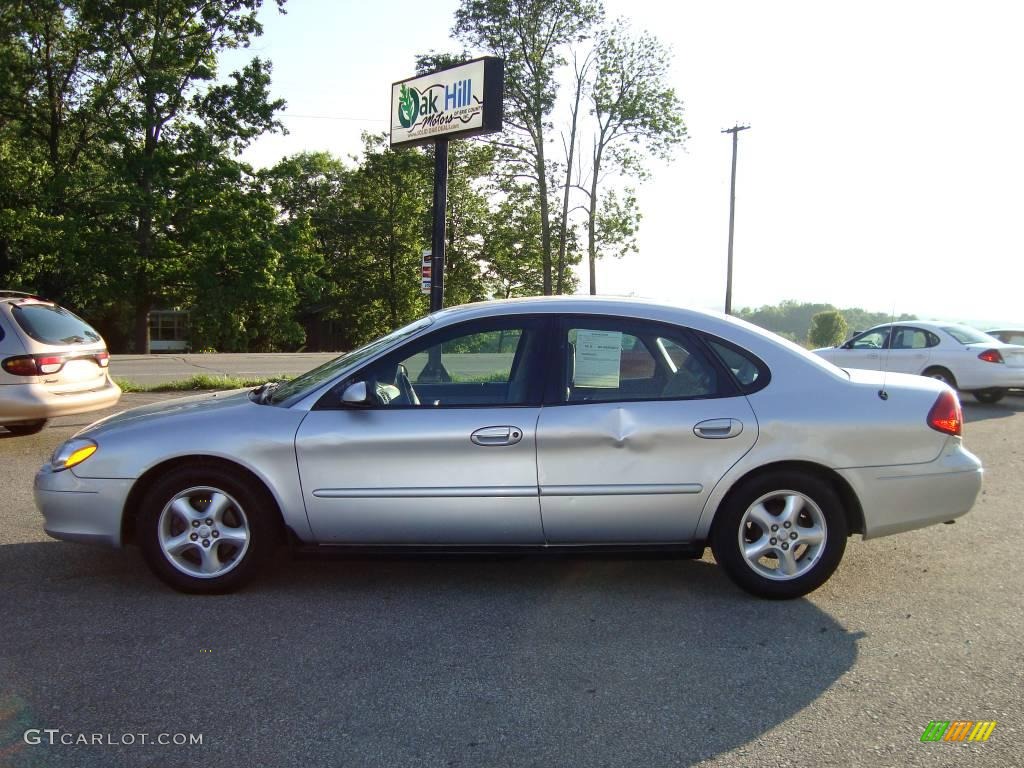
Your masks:
{"label": "white sedan parked in the right background", "polygon": [[1024,386],[1024,346],[955,323],[886,323],[814,353],[841,368],[918,374],[998,402]]}

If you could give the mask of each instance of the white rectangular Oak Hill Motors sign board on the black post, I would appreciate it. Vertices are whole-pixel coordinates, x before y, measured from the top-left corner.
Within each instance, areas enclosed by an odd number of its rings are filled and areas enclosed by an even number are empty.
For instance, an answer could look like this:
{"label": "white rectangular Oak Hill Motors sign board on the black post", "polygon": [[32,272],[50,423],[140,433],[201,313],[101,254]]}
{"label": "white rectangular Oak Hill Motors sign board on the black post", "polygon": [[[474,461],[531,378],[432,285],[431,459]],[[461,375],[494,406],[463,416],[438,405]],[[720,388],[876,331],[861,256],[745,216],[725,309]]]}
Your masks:
{"label": "white rectangular Oak Hill Motors sign board on the black post", "polygon": [[502,129],[505,62],[495,56],[391,85],[391,145],[466,138]]}

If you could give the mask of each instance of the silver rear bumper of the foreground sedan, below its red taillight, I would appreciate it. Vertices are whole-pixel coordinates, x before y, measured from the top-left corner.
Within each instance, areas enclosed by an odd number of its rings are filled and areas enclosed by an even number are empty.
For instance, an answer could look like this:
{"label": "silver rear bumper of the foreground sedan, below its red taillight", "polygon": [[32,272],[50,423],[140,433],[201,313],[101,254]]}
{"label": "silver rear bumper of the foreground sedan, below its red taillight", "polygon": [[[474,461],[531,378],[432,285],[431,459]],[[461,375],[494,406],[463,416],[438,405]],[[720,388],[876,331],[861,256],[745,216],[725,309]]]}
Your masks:
{"label": "silver rear bumper of the foreground sedan, below its red taillight", "polygon": [[841,469],[860,499],[864,539],[946,522],[966,514],[981,490],[981,461],[950,437],[928,464]]}

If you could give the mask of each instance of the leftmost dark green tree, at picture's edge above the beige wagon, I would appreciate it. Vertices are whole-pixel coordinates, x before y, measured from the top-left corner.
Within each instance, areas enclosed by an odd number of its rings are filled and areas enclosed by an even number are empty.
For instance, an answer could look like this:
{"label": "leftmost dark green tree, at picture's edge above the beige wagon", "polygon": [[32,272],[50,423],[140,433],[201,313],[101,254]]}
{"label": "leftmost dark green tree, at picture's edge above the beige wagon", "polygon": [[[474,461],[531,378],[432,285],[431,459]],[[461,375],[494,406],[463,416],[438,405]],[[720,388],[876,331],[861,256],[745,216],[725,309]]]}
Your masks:
{"label": "leftmost dark green tree, at picture's edge above the beige wagon", "polygon": [[0,279],[71,306],[101,301],[104,281],[93,275],[119,252],[108,134],[124,69],[89,7],[0,9]]}

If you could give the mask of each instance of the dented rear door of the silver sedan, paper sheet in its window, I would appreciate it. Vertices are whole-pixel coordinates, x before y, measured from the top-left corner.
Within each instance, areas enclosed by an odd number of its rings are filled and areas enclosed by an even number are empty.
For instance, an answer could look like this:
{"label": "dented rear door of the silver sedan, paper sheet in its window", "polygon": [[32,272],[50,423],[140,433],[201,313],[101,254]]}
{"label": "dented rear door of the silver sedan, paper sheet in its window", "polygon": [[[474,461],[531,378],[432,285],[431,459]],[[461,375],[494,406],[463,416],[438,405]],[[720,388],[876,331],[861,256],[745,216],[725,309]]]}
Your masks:
{"label": "dented rear door of the silver sedan, paper sheet in its window", "polygon": [[538,425],[553,544],[689,541],[708,495],[757,439],[729,372],[659,324],[564,321],[556,385]]}

